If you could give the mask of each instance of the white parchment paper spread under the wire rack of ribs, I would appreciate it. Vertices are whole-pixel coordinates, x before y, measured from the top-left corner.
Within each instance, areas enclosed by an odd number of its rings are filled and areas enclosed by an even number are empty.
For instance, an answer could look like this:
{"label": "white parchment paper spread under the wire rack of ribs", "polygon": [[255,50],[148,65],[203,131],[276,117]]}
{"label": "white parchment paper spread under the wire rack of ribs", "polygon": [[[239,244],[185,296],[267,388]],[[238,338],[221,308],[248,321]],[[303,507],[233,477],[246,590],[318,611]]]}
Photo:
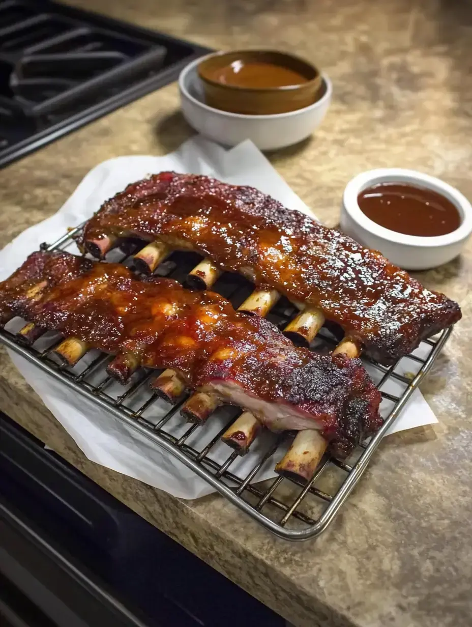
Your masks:
{"label": "white parchment paper spread under the wire rack of ribs", "polygon": [[[18,268],[29,253],[38,249],[41,242],[55,241],[67,228],[90,218],[103,201],[121,191],[128,183],[162,170],[208,174],[229,183],[258,187],[286,207],[313,215],[251,142],[246,141],[231,150],[224,150],[202,137],[195,137],[182,144],[176,152],[164,157],[117,157],[93,168],[55,215],[27,229],[0,251],[0,280]],[[420,353],[422,348],[417,350]],[[10,356],[26,381],[90,460],[149,483],[176,497],[198,498],[214,491],[186,466],[165,451],[158,450],[147,438],[105,409],[98,408],[91,401],[74,394],[68,387],[55,381],[18,354],[10,351]],[[87,364],[87,359],[91,357],[86,356],[81,360],[80,367]],[[407,357],[398,366],[399,371],[407,373],[414,373],[417,369],[416,362]],[[371,374],[379,379],[377,373]],[[382,389],[397,396],[402,393],[403,386],[396,381],[389,381]],[[120,390],[115,393],[119,394]],[[392,403],[384,401],[382,414],[386,416],[391,407]],[[231,410],[222,409],[223,415],[212,417],[202,431],[198,429],[191,438],[211,440],[224,424],[224,419],[228,419],[228,411]],[[176,434],[184,433],[186,425],[182,425],[178,417],[173,420],[174,423],[166,428],[172,429]],[[433,411],[416,390],[390,432],[435,422],[437,420]],[[267,438],[270,437],[267,433],[266,439],[258,438],[259,441],[254,443],[248,455],[234,461],[231,471],[236,474],[249,472],[258,458],[260,447],[265,448],[268,444]],[[280,456],[282,454],[281,452]],[[228,456],[228,447],[222,443],[217,445],[212,456],[216,461],[223,461]],[[275,461],[269,460],[258,478],[263,480],[275,476],[274,465]]]}

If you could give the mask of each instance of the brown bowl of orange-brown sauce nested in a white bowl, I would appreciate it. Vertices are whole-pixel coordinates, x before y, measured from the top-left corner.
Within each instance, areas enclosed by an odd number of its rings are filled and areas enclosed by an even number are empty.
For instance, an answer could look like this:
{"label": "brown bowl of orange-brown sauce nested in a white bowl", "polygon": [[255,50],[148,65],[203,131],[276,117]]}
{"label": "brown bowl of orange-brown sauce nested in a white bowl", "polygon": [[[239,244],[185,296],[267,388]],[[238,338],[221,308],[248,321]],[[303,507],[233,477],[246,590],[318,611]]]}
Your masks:
{"label": "brown bowl of orange-brown sauce nested in a white bowl", "polygon": [[235,50],[207,56],[198,65],[205,102],[245,115],[273,115],[309,107],[322,77],[298,56],[275,50]]}

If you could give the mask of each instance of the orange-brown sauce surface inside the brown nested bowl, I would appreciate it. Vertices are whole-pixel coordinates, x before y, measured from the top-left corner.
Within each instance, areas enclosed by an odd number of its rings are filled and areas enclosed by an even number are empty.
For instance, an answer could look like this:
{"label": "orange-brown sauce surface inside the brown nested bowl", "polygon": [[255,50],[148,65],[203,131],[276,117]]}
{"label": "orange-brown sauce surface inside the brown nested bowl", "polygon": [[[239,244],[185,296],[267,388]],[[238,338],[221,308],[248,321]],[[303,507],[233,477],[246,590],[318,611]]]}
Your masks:
{"label": "orange-brown sauce surface inside the brown nested bowl", "polygon": [[233,61],[223,68],[208,73],[208,78],[223,85],[274,89],[290,85],[303,85],[308,78],[302,74],[275,63],[265,61]]}

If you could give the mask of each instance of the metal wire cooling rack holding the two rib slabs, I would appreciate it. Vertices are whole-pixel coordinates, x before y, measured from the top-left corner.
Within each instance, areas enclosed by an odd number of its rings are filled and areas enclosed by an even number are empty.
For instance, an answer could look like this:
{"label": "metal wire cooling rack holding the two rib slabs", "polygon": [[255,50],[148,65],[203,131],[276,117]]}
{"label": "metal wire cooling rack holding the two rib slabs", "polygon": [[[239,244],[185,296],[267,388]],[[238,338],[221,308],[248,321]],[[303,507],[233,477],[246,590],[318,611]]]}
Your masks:
{"label": "metal wire cooling rack holding the two rib slabs", "polygon": [[[60,249],[77,253],[72,238],[79,229],[80,227],[73,229],[53,245],[45,246],[46,250]],[[115,256],[113,261],[120,261],[126,265],[129,265],[132,259],[130,251],[127,254],[123,251],[112,253]],[[120,256],[117,257],[118,254]],[[159,266],[157,273],[183,280],[198,260],[199,257],[194,253],[173,253]],[[235,307],[243,302],[252,289],[253,286],[242,277],[229,273],[224,273],[214,286],[214,290],[229,298]],[[282,298],[271,310],[268,318],[282,328],[295,314],[293,305]],[[155,376],[155,371],[141,369],[132,377],[128,386],[120,387],[118,393],[116,390],[113,393],[113,385],[117,384],[105,372],[108,361],[112,359],[110,356],[97,352],[85,360],[82,367],[63,367],[50,356],[51,350],[61,342],[57,335],[50,337],[46,345],[43,339],[42,343],[39,340],[32,347],[26,347],[11,330],[3,329],[0,330],[0,340],[76,393],[92,400],[97,406],[106,409],[132,429],[139,431],[156,446],[169,451],[266,529],[286,540],[307,540],[320,535],[332,522],[359,482],[382,437],[433,366],[451,330],[452,327],[449,327],[434,339],[422,342],[419,349],[388,368],[363,357],[367,369],[382,393],[380,410],[385,422],[368,443],[362,443],[354,451],[347,460],[349,463],[325,455],[307,485],[281,477],[264,482],[260,480],[261,470],[268,464],[273,467],[283,455],[286,440],[290,439],[288,435],[276,438],[264,431],[258,436],[256,454],[251,452],[249,472],[247,467],[244,473],[234,470],[234,466],[238,466],[238,460],[241,458],[238,458],[236,451],[222,445],[219,438],[240,412],[227,413],[226,420],[219,423],[223,426],[218,433],[213,432],[209,440],[203,436],[204,427],[196,424],[191,426],[181,424],[181,432],[176,434],[176,429],[170,428],[170,425],[179,422],[179,409],[187,397],[182,398],[175,406],[169,404],[163,406],[162,399],[147,391],[145,386],[150,377]],[[315,348],[318,350],[322,345],[336,343],[337,340],[327,330],[322,329],[315,340]],[[152,419],[149,417],[150,413]],[[224,461],[221,461],[221,454],[219,461],[212,456],[212,452],[218,446],[228,449]]]}

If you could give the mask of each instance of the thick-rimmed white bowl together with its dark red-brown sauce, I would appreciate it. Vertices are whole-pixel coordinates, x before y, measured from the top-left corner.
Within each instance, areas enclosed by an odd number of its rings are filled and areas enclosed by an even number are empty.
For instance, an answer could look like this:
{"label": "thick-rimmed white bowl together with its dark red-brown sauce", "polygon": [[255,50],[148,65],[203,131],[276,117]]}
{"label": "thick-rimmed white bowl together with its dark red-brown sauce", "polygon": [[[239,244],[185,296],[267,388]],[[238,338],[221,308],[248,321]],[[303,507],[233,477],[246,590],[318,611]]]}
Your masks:
{"label": "thick-rimmed white bowl together with its dark red-brown sauce", "polygon": [[472,233],[472,206],[433,176],[382,168],[347,184],[340,227],[405,270],[427,270],[459,255]]}

